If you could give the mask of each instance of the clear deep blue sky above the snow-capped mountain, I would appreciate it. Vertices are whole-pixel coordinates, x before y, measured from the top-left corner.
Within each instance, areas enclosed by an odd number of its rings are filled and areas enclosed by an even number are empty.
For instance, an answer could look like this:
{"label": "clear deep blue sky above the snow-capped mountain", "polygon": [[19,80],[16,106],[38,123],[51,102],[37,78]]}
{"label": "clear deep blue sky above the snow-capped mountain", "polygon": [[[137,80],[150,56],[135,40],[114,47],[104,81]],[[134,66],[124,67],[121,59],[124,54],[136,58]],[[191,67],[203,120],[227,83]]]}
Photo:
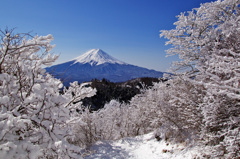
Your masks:
{"label": "clear deep blue sky above the snow-capped mountain", "polygon": [[177,57],[165,57],[160,30],[176,16],[212,0],[0,0],[0,28],[54,36],[57,63],[100,48],[141,67],[167,71]]}

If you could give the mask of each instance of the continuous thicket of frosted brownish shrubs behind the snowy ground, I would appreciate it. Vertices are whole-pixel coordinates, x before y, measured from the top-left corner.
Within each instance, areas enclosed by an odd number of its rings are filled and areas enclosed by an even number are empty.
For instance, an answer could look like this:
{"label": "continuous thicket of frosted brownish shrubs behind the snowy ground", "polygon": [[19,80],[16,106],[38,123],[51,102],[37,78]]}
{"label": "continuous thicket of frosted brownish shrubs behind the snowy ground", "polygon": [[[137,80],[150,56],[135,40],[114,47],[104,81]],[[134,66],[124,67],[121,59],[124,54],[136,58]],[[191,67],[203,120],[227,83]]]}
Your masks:
{"label": "continuous thicket of frosted brownish shrubs behind the snowy ground", "polygon": [[176,77],[167,83],[132,98],[129,104],[112,100],[104,108],[85,108],[78,115],[72,143],[89,147],[98,140],[116,140],[159,130],[171,141],[199,139],[202,114],[201,89],[190,81]]}

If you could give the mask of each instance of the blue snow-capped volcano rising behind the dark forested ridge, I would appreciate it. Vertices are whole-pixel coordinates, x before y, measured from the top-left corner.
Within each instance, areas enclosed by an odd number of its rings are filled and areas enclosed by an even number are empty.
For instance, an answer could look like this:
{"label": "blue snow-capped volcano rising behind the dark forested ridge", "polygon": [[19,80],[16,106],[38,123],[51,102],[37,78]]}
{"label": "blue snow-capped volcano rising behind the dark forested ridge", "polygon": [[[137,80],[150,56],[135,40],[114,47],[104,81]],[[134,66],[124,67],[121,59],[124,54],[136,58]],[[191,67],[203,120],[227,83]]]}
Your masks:
{"label": "blue snow-capped volcano rising behind the dark forested ridge", "polygon": [[111,82],[125,82],[140,77],[162,77],[163,72],[122,62],[101,49],[92,49],[83,55],[58,65],[45,68],[47,72],[63,81],[88,82],[92,79],[107,79]]}

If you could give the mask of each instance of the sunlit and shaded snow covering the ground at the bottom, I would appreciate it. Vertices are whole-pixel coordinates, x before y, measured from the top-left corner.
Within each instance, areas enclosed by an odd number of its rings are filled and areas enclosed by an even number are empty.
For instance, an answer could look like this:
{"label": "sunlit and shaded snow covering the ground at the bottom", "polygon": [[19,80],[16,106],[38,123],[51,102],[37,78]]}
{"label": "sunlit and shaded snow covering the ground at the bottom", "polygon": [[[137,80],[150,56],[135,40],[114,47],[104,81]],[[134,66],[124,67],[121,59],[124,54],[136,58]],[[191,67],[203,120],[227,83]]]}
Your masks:
{"label": "sunlit and shaded snow covering the ground at the bottom", "polygon": [[195,158],[198,147],[157,141],[153,133],[118,141],[100,141],[93,145],[85,159],[190,159]]}

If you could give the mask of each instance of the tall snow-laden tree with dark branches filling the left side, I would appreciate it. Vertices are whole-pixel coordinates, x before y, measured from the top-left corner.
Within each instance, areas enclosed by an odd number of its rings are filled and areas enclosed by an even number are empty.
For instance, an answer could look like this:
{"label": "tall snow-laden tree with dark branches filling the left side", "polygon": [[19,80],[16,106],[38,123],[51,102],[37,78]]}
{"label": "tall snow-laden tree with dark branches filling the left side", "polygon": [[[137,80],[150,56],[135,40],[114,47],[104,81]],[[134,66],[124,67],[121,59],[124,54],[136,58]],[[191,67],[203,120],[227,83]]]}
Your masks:
{"label": "tall snow-laden tree with dark branches filling the left side", "polygon": [[49,54],[52,35],[13,31],[0,31],[0,158],[79,158],[67,141],[72,99],[42,68],[57,59]]}

